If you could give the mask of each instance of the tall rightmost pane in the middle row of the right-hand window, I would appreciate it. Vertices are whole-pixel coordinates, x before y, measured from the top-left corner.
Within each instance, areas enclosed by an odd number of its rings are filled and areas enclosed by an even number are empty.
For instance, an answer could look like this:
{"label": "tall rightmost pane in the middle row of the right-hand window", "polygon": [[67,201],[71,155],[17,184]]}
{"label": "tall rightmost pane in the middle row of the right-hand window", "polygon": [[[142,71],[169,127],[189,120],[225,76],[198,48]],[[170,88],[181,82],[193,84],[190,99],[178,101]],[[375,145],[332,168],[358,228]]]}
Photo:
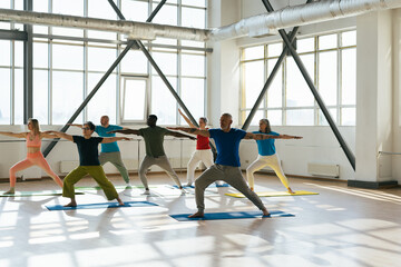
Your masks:
{"label": "tall rightmost pane in the middle row of the right-hand window", "polygon": [[356,105],[356,49],[342,50],[341,103]]}

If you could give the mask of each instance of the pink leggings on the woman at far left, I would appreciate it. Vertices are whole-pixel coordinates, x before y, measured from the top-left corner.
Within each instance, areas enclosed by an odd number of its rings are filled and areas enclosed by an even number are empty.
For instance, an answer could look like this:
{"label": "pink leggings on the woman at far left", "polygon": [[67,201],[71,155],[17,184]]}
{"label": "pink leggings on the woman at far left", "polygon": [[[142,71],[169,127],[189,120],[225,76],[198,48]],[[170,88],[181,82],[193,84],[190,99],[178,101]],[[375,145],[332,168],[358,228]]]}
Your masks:
{"label": "pink leggings on the woman at far left", "polygon": [[49,164],[46,161],[43,155],[40,151],[28,154],[25,160],[17,162],[10,168],[10,187],[16,187],[16,172],[25,170],[31,166],[38,166],[39,168],[45,170],[46,174],[48,174],[56,181],[57,185],[62,187],[62,181],[60,177],[58,177],[58,175],[52,171]]}

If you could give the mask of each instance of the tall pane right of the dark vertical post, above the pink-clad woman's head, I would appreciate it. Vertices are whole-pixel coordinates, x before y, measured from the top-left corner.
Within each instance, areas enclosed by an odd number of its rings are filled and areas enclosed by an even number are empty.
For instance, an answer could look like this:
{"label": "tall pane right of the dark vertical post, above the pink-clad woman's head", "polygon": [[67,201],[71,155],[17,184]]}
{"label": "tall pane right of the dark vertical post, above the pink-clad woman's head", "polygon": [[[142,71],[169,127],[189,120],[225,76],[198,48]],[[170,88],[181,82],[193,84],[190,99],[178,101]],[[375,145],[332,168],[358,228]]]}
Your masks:
{"label": "tall pane right of the dark vertical post, above the pink-clad woman's head", "polygon": [[49,121],[49,72],[33,70],[33,118],[42,125]]}

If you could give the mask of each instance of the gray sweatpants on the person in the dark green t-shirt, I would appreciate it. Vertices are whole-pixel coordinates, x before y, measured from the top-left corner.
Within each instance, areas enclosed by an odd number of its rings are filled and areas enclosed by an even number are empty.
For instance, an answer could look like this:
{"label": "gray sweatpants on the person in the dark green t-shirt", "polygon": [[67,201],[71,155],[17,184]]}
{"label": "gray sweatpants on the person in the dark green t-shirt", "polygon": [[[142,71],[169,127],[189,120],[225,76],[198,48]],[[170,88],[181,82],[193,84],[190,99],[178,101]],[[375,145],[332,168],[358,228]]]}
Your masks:
{"label": "gray sweatpants on the person in the dark green t-shirt", "polygon": [[157,158],[145,156],[145,158],[140,162],[140,167],[139,167],[139,178],[145,188],[149,188],[148,184],[147,184],[146,172],[147,172],[147,169],[153,165],[157,165],[158,167],[164,169],[167,172],[167,175],[175,181],[175,184],[178,187],[182,187],[178,176],[172,168],[172,165],[169,164],[166,156],[159,156]]}

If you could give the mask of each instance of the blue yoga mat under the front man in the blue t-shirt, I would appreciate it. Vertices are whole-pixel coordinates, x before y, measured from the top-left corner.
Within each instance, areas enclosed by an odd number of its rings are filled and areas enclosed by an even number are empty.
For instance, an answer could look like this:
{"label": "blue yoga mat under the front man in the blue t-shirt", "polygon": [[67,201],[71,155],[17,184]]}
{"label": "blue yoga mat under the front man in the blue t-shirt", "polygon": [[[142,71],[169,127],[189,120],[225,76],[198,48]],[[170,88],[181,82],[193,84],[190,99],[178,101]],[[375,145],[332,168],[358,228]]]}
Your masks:
{"label": "blue yoga mat under the front man in the blue t-shirt", "polygon": [[[231,212],[212,212],[205,214],[202,218],[188,218],[190,214],[180,214],[180,215],[170,215],[174,219],[178,221],[188,221],[188,220],[217,220],[217,219],[246,219],[246,218],[262,218],[262,211],[231,211]],[[280,210],[270,211],[270,216],[264,218],[272,217],[293,217],[295,215],[287,214]]]}

